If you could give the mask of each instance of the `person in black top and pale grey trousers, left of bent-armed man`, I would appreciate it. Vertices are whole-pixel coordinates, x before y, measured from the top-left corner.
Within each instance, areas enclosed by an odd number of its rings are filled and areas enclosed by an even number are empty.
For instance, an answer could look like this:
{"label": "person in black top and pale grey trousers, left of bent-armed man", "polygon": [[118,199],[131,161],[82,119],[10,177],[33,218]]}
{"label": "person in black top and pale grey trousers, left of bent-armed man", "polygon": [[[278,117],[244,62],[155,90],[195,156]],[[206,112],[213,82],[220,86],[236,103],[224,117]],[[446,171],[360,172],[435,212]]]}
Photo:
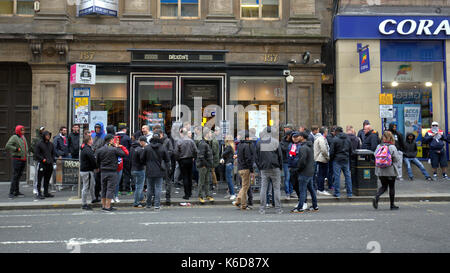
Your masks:
{"label": "person in black top and pale grey trousers, left of bent-armed man", "polygon": [[95,154],[92,150],[94,143],[90,135],[83,138],[80,154],[80,177],[83,185],[81,191],[81,208],[84,210],[92,210],[92,207],[87,203],[88,193],[91,196],[91,202],[95,200],[95,176],[94,170],[97,169],[97,162]]}

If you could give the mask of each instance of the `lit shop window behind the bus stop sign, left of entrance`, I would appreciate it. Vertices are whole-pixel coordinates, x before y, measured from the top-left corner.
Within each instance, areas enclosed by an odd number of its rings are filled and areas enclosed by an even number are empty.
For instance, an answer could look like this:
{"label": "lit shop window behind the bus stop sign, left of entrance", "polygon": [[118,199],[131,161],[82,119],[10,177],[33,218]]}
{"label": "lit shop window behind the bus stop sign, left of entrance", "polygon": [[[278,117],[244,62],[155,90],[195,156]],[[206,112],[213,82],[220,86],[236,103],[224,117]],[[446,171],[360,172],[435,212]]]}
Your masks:
{"label": "lit shop window behind the bus stop sign, left of entrance", "polygon": [[[117,129],[120,124],[129,126],[127,112],[127,77],[97,75],[91,86],[91,120],[95,117],[105,128],[114,125]],[[95,121],[91,123],[93,130]]]}

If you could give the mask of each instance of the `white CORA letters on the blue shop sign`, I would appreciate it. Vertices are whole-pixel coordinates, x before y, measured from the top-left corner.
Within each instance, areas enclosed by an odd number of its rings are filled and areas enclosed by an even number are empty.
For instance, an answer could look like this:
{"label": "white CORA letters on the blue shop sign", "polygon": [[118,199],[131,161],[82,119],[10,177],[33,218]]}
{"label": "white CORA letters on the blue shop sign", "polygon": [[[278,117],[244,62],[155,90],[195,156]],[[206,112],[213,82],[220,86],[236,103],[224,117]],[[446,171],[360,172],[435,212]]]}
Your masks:
{"label": "white CORA letters on the blue shop sign", "polygon": [[378,25],[380,33],[384,35],[392,35],[397,32],[400,35],[439,35],[444,31],[446,35],[450,35],[449,21],[444,19],[441,22],[435,22],[429,19],[405,19],[397,22],[395,19],[386,19]]}

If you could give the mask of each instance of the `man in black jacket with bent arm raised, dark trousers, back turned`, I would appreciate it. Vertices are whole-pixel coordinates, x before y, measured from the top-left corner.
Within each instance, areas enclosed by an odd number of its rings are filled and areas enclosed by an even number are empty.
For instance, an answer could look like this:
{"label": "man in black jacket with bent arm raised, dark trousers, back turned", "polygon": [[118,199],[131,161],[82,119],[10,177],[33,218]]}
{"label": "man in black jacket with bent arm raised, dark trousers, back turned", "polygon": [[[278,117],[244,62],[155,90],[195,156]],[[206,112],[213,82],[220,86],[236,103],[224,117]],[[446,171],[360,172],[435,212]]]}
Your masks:
{"label": "man in black jacket with bent arm raised, dark trousers, back turned", "polygon": [[97,166],[99,166],[101,173],[102,211],[112,212],[116,210],[111,207],[111,199],[114,197],[116,183],[119,182],[117,181],[117,158],[127,155],[127,149],[118,142],[114,142],[114,135],[112,134],[105,136],[105,145],[95,152]]}

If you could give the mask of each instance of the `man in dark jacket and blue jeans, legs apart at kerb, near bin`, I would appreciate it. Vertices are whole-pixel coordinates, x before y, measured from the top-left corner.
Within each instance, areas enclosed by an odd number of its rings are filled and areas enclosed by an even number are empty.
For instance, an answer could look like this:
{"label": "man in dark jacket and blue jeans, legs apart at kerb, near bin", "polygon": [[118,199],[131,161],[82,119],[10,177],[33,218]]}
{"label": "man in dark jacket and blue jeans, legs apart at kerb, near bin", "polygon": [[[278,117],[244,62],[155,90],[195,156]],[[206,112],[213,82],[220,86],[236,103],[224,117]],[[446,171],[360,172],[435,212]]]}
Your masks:
{"label": "man in dark jacket and blue jeans, legs apart at kerb, near bin", "polygon": [[300,139],[300,158],[298,160],[298,183],[300,189],[300,198],[295,208],[291,210],[292,213],[305,212],[304,203],[306,203],[306,191],[309,191],[312,199],[311,211],[319,211],[317,205],[316,191],[313,187],[314,178],[314,148],[311,141],[308,140],[309,134],[300,132],[298,135]]}

